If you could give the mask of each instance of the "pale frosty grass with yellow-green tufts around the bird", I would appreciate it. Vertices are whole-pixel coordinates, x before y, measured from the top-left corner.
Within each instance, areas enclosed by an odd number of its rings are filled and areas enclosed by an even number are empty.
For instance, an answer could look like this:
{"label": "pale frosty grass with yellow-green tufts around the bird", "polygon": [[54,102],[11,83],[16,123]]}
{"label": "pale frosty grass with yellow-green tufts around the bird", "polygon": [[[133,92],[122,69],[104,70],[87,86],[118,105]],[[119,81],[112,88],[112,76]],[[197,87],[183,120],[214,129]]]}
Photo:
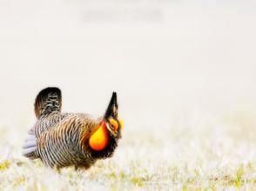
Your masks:
{"label": "pale frosty grass with yellow-green tufts around the bird", "polygon": [[253,190],[255,128],[244,136],[230,134],[236,129],[225,122],[161,131],[125,129],[111,159],[86,171],[61,172],[22,157],[24,137],[7,142],[7,133],[0,135],[0,190]]}

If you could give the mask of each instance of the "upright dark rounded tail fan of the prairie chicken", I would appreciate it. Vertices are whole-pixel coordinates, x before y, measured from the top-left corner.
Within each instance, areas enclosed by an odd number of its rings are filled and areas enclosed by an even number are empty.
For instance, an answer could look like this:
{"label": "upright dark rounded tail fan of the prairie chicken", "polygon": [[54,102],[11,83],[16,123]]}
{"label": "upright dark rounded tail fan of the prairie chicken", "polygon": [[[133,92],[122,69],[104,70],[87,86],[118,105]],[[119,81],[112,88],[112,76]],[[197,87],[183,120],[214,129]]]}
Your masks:
{"label": "upright dark rounded tail fan of the prairie chicken", "polygon": [[55,87],[46,88],[39,92],[35,102],[35,114],[37,118],[49,115],[53,111],[61,111],[61,90]]}

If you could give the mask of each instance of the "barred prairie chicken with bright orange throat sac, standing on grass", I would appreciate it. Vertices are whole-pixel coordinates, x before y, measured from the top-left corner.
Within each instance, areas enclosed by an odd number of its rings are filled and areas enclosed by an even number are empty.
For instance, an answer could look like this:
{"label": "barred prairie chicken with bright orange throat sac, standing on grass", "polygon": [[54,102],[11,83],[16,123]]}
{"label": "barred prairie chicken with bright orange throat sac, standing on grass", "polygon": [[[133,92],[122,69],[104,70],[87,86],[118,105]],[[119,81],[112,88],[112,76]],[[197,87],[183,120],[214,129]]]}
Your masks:
{"label": "barred prairie chicken with bright orange throat sac, standing on grass", "polygon": [[37,122],[24,142],[23,155],[40,158],[51,168],[90,168],[98,159],[111,157],[121,138],[117,94],[113,92],[104,116],[61,113],[62,95],[57,88],[39,92],[35,102]]}

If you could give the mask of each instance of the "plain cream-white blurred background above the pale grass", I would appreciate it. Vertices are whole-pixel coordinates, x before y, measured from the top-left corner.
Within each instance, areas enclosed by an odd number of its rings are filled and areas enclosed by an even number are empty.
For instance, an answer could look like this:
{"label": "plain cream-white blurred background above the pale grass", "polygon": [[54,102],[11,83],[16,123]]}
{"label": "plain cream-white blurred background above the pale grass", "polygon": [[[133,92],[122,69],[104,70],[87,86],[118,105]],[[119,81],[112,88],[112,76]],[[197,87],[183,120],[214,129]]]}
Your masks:
{"label": "plain cream-white blurred background above the pale grass", "polygon": [[64,111],[91,115],[117,91],[126,132],[225,122],[255,140],[255,5],[1,0],[1,131],[21,143],[38,91],[57,86]]}

